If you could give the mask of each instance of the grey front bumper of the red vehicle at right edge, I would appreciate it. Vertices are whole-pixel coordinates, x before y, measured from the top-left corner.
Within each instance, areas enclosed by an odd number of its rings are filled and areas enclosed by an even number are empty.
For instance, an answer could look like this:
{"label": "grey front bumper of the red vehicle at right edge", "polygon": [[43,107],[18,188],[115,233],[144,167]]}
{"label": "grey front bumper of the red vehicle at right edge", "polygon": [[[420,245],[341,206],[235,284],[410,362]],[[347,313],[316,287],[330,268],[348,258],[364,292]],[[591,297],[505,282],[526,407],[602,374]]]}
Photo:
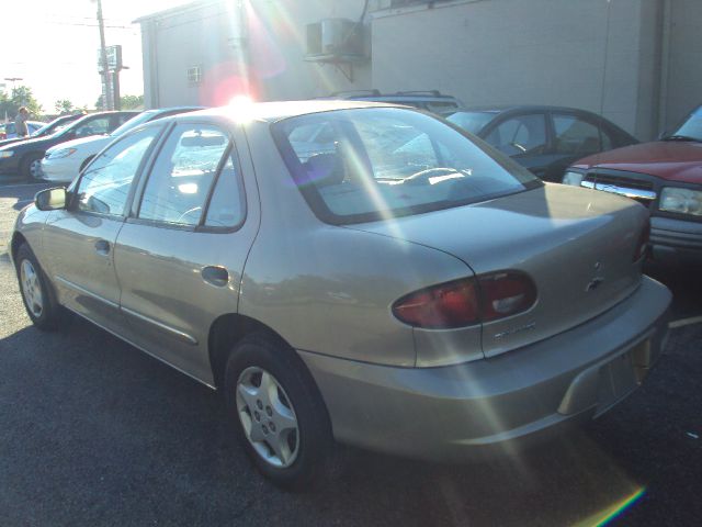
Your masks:
{"label": "grey front bumper of the red vehicle at right edge", "polygon": [[650,218],[652,256],[667,265],[702,262],[702,223],[670,217]]}

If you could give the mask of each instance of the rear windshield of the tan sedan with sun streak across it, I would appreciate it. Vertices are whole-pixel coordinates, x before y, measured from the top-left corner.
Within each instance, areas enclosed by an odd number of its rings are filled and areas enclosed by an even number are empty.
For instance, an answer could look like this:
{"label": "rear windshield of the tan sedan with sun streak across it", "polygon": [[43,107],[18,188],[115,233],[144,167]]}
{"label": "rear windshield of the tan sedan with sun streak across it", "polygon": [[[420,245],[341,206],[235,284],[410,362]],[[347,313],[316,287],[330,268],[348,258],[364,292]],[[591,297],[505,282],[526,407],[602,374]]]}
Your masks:
{"label": "rear windshield of the tan sedan with sun streak across it", "polygon": [[295,183],[328,223],[420,214],[542,184],[487,144],[414,110],[315,113],[272,130]]}

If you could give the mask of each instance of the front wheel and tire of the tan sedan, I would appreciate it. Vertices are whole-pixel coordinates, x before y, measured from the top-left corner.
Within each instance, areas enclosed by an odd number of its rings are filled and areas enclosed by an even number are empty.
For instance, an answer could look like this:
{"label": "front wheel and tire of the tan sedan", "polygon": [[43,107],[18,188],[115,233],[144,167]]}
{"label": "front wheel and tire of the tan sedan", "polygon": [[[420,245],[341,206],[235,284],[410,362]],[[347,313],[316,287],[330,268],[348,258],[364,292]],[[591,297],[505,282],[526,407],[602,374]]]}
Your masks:
{"label": "front wheel and tire of the tan sedan", "polygon": [[15,269],[27,315],[39,329],[56,330],[61,319],[61,307],[27,244],[22,244],[18,249]]}

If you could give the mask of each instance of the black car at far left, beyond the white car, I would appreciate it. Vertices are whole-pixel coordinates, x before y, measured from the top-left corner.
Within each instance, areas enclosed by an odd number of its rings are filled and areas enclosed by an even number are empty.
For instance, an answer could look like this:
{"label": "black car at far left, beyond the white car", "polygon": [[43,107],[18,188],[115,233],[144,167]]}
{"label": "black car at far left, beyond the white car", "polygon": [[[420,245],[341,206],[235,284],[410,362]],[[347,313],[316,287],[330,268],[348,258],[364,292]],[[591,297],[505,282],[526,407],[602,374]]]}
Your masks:
{"label": "black car at far left, beyond the white car", "polygon": [[0,147],[0,175],[20,175],[37,179],[42,173],[42,158],[52,146],[77,137],[109,134],[139,112],[99,112],[66,126],[47,137],[37,137]]}

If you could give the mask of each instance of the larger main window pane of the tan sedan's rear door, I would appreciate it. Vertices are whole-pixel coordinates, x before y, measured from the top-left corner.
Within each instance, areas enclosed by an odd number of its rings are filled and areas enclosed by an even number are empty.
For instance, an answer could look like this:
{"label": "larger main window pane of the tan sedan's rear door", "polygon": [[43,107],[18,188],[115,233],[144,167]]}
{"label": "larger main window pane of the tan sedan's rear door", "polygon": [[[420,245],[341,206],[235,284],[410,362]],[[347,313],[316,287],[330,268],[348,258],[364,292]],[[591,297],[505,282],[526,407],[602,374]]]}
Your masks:
{"label": "larger main window pane of the tan sedan's rear door", "polygon": [[228,136],[214,126],[176,126],[146,183],[138,217],[199,225],[228,145]]}

